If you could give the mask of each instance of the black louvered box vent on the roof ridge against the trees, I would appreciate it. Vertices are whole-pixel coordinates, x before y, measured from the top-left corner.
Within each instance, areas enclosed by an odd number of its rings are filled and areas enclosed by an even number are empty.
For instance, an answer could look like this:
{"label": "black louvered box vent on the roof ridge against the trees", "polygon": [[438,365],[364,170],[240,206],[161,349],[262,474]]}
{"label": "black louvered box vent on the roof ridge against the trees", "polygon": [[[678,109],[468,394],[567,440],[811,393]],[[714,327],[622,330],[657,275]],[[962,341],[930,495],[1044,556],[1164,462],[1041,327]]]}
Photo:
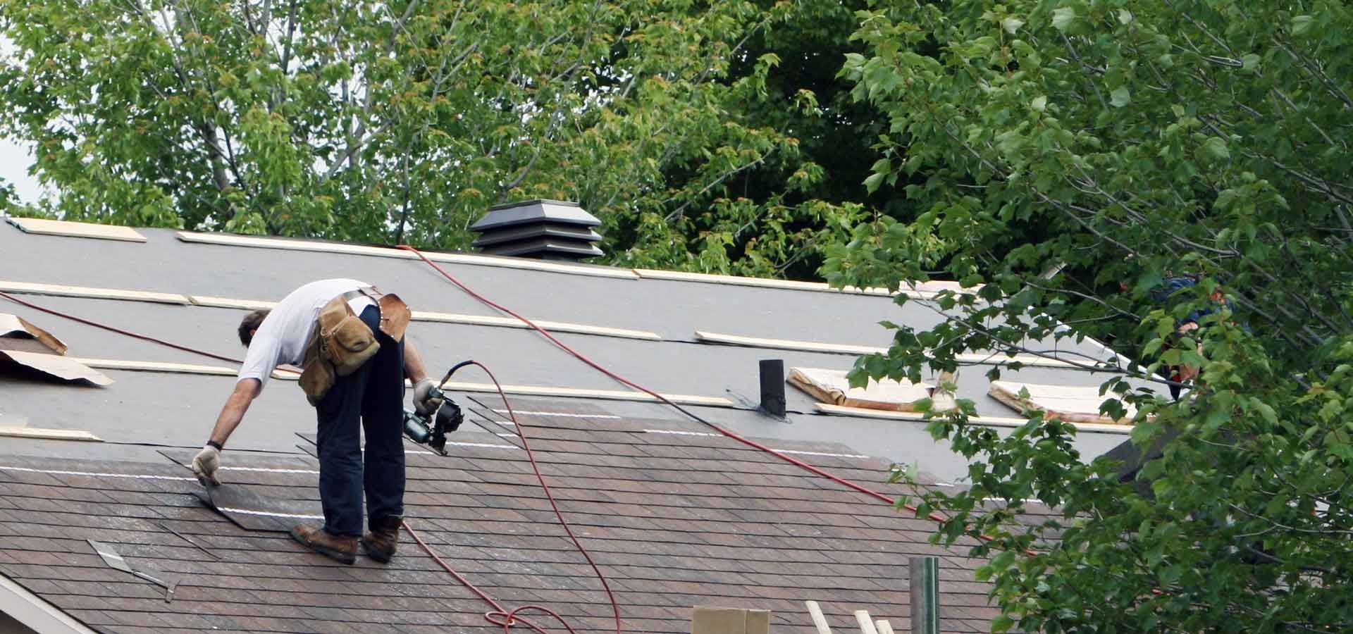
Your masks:
{"label": "black louvered box vent on the roof ridge against the trees", "polygon": [[479,233],[474,246],[490,255],[578,261],[603,255],[591,228],[599,224],[578,203],[528,200],[491,207],[469,230]]}

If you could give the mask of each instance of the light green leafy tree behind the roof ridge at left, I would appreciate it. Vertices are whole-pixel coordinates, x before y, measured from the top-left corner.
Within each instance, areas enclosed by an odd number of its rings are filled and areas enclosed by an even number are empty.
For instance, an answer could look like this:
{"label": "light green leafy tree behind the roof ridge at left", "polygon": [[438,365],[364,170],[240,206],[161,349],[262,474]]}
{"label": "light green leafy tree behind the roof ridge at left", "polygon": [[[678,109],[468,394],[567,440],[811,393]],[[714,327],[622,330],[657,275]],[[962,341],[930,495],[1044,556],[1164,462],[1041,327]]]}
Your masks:
{"label": "light green leafy tree behind the roof ridge at left", "polygon": [[[69,219],[465,247],[491,204],[559,197],[613,262],[770,272],[858,214],[729,189],[771,158],[781,192],[823,177],[729,109],[777,64],[748,38],[793,9],[0,0],[0,135],[37,143]],[[774,237],[729,249],[748,223]]]}

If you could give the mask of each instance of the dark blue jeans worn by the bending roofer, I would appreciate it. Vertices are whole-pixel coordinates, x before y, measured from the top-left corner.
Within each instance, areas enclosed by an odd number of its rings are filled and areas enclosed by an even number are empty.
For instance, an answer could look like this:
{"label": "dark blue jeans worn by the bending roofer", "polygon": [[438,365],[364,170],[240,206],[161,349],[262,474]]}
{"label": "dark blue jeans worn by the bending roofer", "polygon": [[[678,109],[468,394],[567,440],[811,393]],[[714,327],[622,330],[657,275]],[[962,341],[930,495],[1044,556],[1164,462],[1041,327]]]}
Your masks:
{"label": "dark blue jeans worn by the bending roofer", "polygon": [[361,320],[376,334],[380,350],[357,372],[338,377],[315,408],[319,502],[325,530],[334,535],[361,535],[364,491],[369,526],[405,514],[405,345],[380,331],[380,310],[375,306],[361,311]]}

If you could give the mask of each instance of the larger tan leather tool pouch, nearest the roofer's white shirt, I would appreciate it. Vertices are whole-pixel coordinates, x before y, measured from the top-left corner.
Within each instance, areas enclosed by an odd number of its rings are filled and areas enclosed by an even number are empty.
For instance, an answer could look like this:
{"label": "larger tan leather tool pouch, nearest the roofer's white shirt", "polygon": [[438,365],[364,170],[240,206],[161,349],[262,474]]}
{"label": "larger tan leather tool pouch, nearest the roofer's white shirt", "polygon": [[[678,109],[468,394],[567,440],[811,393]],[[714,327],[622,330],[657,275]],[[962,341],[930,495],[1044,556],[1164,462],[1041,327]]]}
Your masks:
{"label": "larger tan leather tool pouch, nearest the roofer's white shirt", "polygon": [[300,389],[306,399],[318,406],[338,377],[356,372],[377,350],[376,335],[352,312],[348,300],[344,296],[330,300],[319,310],[300,364]]}

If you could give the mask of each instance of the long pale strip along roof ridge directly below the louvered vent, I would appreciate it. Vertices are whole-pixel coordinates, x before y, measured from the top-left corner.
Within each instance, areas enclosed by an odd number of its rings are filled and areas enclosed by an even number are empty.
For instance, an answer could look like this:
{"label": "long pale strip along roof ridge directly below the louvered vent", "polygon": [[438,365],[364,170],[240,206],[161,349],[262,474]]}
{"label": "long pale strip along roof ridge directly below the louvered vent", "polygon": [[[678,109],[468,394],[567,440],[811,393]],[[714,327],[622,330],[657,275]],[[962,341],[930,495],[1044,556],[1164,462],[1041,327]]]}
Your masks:
{"label": "long pale strip along roof ridge directly below the louvered vent", "polygon": [[[400,258],[400,260],[418,258],[418,255],[414,255],[410,251],[399,249],[387,249],[387,247],[364,246],[364,245],[345,245],[341,242],[310,242],[310,241],[295,241],[283,238],[250,238],[246,235],[196,234],[191,231],[179,231],[177,235],[180,241],[200,242],[204,245],[250,246],[260,249],[285,249],[294,251],[346,253],[353,255],[376,255],[376,257]],[[478,266],[502,266],[509,269],[544,270],[551,273],[570,273],[570,274],[593,276],[593,277],[614,277],[622,280],[639,278],[639,276],[629,269],[612,269],[605,266],[584,266],[574,264],[545,262],[545,261],[526,260],[526,258],[474,255],[468,253],[423,253],[423,255],[428,255],[428,260],[432,260],[434,262],[469,264]]]}

